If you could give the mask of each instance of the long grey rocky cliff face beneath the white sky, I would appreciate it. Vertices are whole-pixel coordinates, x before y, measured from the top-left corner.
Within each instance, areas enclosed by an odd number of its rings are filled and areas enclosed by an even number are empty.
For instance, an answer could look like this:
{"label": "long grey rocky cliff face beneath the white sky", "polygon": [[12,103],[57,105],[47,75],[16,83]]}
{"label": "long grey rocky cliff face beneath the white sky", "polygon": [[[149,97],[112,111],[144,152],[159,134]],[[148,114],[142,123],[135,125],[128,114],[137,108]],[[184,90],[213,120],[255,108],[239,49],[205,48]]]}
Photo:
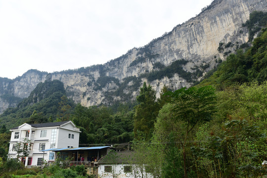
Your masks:
{"label": "long grey rocky cliff face beneath the white sky", "polygon": [[[267,0],[214,0],[171,32],[104,65],[51,74],[30,70],[14,80],[0,78],[0,113],[15,106],[18,98],[28,97],[45,80],[60,80],[67,96],[84,106],[134,100],[144,81],[153,86],[157,96],[164,85],[174,90],[190,87],[216,66],[219,58],[224,60],[227,51],[248,41],[242,23],[255,10],[267,11]],[[220,43],[229,42],[224,53],[218,51]]]}

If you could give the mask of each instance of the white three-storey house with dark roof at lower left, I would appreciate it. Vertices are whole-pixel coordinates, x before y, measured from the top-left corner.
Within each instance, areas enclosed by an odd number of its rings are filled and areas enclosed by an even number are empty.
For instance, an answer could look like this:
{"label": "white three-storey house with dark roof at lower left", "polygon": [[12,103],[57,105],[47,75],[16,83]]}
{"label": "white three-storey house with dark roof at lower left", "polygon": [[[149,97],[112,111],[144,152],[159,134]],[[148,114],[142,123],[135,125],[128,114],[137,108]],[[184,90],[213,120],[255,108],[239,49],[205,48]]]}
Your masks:
{"label": "white three-storey house with dark roof at lower left", "polygon": [[25,166],[41,166],[42,160],[54,161],[54,152],[42,150],[50,148],[72,148],[79,147],[80,129],[76,128],[71,121],[22,124],[12,128],[8,156],[17,158],[17,143],[29,140],[30,154],[28,157],[20,158]]}

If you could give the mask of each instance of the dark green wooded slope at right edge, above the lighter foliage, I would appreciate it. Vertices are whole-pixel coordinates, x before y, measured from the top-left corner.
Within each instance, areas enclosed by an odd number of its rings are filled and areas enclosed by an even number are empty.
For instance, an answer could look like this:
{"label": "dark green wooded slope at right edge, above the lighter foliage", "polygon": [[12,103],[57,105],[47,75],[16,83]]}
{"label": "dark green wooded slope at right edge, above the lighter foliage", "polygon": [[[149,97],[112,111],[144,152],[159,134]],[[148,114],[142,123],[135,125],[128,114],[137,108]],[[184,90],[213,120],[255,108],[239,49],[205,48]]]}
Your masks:
{"label": "dark green wooded slope at right edge, above the lighter foliage", "polygon": [[230,54],[213,75],[203,80],[200,86],[213,85],[225,89],[236,83],[264,82],[267,80],[267,28],[253,41],[245,52],[240,49]]}

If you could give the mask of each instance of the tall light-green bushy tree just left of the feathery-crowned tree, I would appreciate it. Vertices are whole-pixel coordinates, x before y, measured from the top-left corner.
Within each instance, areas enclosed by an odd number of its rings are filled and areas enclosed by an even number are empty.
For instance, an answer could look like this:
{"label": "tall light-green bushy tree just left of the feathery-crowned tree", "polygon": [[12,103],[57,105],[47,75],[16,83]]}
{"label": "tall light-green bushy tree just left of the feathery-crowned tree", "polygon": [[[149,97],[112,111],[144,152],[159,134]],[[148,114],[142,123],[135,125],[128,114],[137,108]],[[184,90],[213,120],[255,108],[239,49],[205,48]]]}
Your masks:
{"label": "tall light-green bushy tree just left of the feathery-crowned tree", "polygon": [[[183,125],[181,121],[173,117],[174,106],[174,104],[166,103],[159,111],[151,146],[155,150],[150,149],[149,151],[156,153],[154,153],[154,159],[161,156],[161,161],[157,161],[156,166],[162,170],[160,177],[164,178],[183,177],[181,151],[177,145]],[[179,141],[181,142],[181,140]]]}

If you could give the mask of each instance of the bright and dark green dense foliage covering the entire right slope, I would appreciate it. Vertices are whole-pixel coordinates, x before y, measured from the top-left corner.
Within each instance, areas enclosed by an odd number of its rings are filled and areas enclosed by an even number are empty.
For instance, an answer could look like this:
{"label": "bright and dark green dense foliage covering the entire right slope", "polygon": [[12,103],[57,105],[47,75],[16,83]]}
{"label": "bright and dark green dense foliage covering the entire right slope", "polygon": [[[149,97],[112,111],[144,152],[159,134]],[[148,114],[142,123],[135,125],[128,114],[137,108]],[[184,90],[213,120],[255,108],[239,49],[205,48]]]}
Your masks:
{"label": "bright and dark green dense foliage covering the entire right slope", "polygon": [[[140,137],[134,141],[136,157],[146,155],[138,164],[149,165],[154,178],[265,177],[266,43],[263,29],[252,47],[230,54],[196,88],[167,93],[172,100],[159,111],[150,142]],[[192,96],[208,85],[217,90],[207,95],[212,97],[206,105],[201,103],[205,94]],[[198,104],[204,109],[194,106]]]}

